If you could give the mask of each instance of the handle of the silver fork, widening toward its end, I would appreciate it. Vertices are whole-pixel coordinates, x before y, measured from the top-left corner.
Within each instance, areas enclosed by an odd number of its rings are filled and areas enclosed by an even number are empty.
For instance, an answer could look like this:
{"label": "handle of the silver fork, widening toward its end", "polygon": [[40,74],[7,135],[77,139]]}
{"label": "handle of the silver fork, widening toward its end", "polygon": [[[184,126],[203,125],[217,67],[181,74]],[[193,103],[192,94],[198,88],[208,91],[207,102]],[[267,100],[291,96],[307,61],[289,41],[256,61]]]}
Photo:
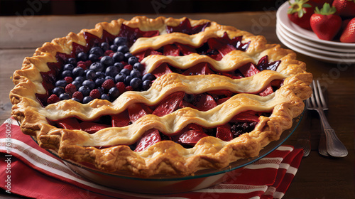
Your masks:
{"label": "handle of the silver fork, widening toward its end", "polygon": [[320,114],[320,121],[322,122],[322,127],[324,129],[325,137],[327,139],[327,152],[330,156],[334,157],[345,157],[348,155],[348,151],[342,141],[339,140],[335,134],[334,129],[330,127],[327,117],[322,109],[317,109]]}

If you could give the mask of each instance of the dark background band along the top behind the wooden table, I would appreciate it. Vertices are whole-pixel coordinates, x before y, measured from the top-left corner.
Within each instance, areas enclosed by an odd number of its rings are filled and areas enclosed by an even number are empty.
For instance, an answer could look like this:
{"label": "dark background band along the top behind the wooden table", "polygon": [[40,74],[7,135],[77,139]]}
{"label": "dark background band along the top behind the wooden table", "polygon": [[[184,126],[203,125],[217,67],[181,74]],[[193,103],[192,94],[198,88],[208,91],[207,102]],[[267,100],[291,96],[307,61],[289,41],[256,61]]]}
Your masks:
{"label": "dark background band along the top behind the wooden table", "polygon": [[285,0],[0,0],[0,16],[265,11]]}

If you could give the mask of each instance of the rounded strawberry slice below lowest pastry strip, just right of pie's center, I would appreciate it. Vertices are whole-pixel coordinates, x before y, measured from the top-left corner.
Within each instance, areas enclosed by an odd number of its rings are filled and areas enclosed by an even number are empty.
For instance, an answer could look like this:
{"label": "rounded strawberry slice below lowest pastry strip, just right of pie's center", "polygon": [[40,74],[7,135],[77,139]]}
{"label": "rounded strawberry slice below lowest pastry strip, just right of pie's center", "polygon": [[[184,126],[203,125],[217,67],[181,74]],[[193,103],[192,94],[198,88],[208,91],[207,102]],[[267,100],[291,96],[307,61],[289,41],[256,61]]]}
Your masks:
{"label": "rounded strawberry slice below lowest pastry strip, just right of pie's center", "polygon": [[179,132],[180,136],[177,137],[179,144],[187,144],[194,146],[197,141],[200,141],[205,136],[202,127],[197,124],[188,124],[184,129]]}

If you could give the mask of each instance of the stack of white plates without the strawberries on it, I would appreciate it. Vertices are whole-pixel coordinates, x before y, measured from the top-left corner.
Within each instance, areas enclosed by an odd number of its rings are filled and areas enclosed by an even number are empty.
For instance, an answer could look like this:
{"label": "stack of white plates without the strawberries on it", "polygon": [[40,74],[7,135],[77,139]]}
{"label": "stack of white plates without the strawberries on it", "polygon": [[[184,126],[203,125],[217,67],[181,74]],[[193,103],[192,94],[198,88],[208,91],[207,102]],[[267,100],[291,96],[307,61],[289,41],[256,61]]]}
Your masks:
{"label": "stack of white plates without the strawberries on it", "polygon": [[319,39],[312,31],[300,28],[288,19],[288,1],[276,14],[276,34],[288,48],[328,63],[355,63],[355,43],[341,43]]}

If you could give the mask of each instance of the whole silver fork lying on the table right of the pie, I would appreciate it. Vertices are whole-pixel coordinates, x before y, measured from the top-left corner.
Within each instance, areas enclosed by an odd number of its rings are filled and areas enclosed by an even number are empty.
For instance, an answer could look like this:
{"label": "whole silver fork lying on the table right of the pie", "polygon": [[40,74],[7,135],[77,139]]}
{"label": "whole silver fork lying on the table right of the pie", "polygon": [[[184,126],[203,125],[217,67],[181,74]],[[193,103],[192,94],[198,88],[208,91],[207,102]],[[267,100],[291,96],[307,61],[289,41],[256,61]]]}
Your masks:
{"label": "whole silver fork lying on the table right of the pie", "polygon": [[320,87],[320,81],[317,80],[316,84],[315,80],[313,80],[311,87],[313,90],[313,94],[312,97],[307,99],[307,109],[316,110],[318,114],[320,114],[322,129],[324,130],[325,138],[327,139],[326,143],[328,154],[330,156],[339,158],[347,156],[348,151],[346,150],[346,147],[344,146],[344,144],[342,144],[342,141],[338,139],[334,129],[330,127],[327,121],[327,117],[325,117],[324,110],[327,110],[328,107],[322,93],[322,88]]}

